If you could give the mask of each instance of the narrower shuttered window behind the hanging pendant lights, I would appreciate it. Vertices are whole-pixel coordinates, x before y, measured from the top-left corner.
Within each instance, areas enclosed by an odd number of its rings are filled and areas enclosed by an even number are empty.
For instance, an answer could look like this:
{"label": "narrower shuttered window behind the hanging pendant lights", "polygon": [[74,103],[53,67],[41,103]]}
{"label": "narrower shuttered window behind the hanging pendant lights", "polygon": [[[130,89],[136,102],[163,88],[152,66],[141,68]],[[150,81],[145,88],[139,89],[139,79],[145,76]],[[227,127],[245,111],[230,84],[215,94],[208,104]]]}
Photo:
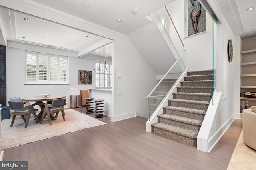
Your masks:
{"label": "narrower shuttered window behind the hanging pendant lights", "polygon": [[[95,63],[95,87],[112,87],[112,63],[106,63],[107,70],[104,70],[104,62]],[[101,71],[97,71],[100,67]]]}

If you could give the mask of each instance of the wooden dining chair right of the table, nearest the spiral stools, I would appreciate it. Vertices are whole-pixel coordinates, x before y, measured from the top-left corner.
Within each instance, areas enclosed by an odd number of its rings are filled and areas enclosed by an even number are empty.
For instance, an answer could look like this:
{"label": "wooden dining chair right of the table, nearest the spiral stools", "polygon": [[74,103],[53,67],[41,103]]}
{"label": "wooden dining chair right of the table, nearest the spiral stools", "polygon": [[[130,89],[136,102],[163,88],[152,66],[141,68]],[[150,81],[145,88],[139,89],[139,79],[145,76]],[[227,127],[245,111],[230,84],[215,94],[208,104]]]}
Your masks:
{"label": "wooden dining chair right of the table, nearest the spiral stools", "polygon": [[[42,114],[42,118],[41,118],[41,122],[43,122],[44,117],[47,114],[48,117],[48,121],[50,123],[50,125],[52,125],[52,121],[51,121],[51,115],[53,117],[55,117],[57,119],[59,112],[61,111],[62,113],[62,117],[63,117],[63,121],[65,121],[65,111],[64,111],[64,106],[66,105],[66,98],[62,98],[62,99],[53,99],[52,100],[52,104],[49,103],[43,103],[42,105],[44,105],[44,112]],[[56,113],[56,115],[54,116],[54,113]]]}

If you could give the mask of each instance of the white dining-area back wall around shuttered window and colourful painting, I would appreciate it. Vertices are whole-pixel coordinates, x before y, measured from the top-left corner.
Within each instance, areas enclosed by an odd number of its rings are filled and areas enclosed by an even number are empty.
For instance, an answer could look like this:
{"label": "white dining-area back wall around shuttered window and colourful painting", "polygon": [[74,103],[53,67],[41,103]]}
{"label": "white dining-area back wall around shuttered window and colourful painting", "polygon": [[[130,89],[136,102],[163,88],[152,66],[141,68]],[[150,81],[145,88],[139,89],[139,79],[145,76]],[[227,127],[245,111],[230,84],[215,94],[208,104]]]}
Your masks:
{"label": "white dining-area back wall around shuttered window and colourful painting", "polygon": [[[70,95],[78,95],[80,90],[93,87],[93,85],[78,85],[78,70],[92,70],[92,67],[92,60],[69,57],[68,85],[26,85],[24,84],[26,75],[25,50],[6,47],[7,99],[16,96],[30,97],[50,93],[51,95],[65,95],[68,104],[66,107],[70,107]],[[95,80],[94,74],[93,79]],[[71,90],[72,87],[77,88],[77,90]]]}

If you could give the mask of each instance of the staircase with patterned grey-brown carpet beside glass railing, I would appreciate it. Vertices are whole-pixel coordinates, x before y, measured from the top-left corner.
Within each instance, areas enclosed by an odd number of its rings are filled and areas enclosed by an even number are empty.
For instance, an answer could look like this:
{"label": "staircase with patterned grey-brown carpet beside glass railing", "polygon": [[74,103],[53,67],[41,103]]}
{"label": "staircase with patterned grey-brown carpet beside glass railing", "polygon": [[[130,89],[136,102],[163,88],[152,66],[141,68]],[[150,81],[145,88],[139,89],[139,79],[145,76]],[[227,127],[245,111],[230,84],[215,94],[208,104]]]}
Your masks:
{"label": "staircase with patterned grey-brown carpet beside glass railing", "polygon": [[196,136],[212,97],[212,70],[191,71],[184,77],[173,99],[152,124],[152,132],[196,146]]}

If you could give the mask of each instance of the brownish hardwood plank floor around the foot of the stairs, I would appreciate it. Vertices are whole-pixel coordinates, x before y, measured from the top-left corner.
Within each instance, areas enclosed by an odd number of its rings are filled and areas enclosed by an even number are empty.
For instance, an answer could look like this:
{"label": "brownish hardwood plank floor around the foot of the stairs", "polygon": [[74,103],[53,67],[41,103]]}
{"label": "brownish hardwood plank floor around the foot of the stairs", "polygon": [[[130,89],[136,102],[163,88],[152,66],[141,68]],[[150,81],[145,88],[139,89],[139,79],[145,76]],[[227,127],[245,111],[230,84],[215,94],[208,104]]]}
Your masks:
{"label": "brownish hardwood plank floor around the foot of the stairs", "polygon": [[[75,110],[85,113],[85,107]],[[93,116],[90,114],[90,116]],[[28,170],[226,170],[242,131],[236,119],[210,153],[146,132],[134,117],[4,150],[5,161],[28,161]]]}

